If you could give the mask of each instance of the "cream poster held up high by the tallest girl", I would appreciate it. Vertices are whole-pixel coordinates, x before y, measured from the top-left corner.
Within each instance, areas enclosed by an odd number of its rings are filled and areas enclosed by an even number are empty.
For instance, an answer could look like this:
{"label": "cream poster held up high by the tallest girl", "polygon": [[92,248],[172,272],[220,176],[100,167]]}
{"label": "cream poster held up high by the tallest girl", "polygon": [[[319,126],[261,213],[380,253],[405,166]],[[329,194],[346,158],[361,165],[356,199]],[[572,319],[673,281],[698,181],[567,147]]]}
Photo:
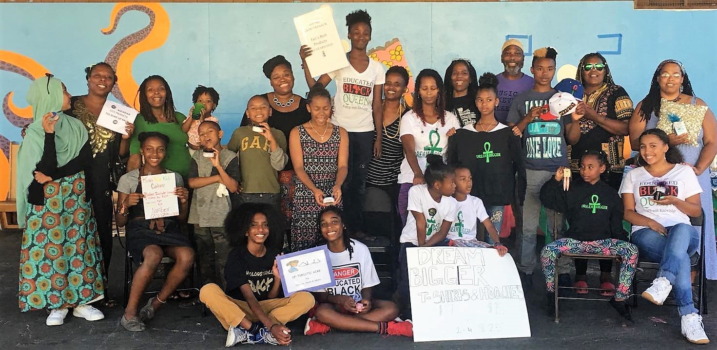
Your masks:
{"label": "cream poster held up high by the tallest girl", "polygon": [[312,77],[348,67],[331,6],[323,5],[308,14],[294,17],[294,26],[301,44],[313,50],[311,56],[306,57]]}

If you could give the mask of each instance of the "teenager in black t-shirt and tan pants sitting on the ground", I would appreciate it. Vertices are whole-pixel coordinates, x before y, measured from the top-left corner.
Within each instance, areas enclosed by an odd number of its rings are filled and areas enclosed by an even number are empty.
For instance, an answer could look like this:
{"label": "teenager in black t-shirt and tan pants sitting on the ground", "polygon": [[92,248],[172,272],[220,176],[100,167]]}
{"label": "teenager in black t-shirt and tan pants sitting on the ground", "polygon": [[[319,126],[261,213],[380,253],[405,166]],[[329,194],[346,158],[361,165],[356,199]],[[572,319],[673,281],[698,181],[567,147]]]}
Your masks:
{"label": "teenager in black t-shirt and tan pants sitting on the ground", "polygon": [[227,288],[206,284],[199,300],[227,329],[225,346],[291,344],[285,324],[313,308],[314,298],[305,291],[281,297],[275,260],[283,243],[278,213],[268,204],[244,203],[227,215],[224,228],[232,245],[224,268]]}

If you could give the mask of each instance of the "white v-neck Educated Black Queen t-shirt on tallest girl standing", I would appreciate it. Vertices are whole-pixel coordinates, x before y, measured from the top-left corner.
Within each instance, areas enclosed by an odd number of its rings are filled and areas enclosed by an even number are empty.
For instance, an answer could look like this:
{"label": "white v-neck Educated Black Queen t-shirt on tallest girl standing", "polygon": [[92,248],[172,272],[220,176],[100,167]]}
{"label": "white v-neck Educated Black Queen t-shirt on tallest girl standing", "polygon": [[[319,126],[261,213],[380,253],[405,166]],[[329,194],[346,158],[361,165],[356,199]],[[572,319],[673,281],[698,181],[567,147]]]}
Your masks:
{"label": "white v-neck Educated Black Queen t-shirt on tallest girl standing", "polygon": [[[356,72],[351,64],[328,76],[336,82],[336,96],[333,97],[333,124],[348,132],[376,130],[374,125],[374,87],[386,82],[384,65],[369,59],[369,67],[362,73]],[[379,90],[379,94],[383,92]]]}

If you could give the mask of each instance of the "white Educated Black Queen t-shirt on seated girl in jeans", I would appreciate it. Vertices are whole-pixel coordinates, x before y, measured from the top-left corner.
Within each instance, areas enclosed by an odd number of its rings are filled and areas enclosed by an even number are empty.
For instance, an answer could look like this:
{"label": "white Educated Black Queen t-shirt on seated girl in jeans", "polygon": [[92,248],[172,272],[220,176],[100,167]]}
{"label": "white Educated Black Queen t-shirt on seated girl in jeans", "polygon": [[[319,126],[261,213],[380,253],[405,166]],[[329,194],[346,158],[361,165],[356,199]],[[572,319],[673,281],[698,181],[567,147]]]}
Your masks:
{"label": "white Educated Black Queen t-shirt on seated girl in jeans", "polygon": [[[657,221],[660,225],[670,227],[678,223],[690,223],[688,215],[675,205],[659,205],[652,201],[657,183],[663,182],[665,183],[663,186],[667,188],[665,195],[674,195],[680,200],[702,193],[695,171],[692,167],[681,164],[675,164],[675,167],[661,178],[650,175],[645,167],[630,170],[622,179],[620,193],[632,193],[635,196],[635,211]],[[632,225],[632,232],[642,228],[645,226]]]}

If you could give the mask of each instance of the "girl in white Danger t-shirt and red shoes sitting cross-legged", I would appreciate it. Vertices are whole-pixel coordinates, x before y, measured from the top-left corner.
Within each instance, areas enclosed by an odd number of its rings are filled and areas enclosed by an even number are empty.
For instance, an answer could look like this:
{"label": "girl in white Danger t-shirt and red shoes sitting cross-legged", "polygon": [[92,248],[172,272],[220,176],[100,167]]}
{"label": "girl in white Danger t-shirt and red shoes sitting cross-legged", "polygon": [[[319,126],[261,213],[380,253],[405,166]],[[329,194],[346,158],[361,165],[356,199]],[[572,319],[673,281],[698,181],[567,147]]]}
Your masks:
{"label": "girl in white Danger t-shirt and red shoes sitting cross-legged", "polygon": [[[333,205],[321,210],[318,227],[327,242],[336,286],[314,293],[318,306],[314,318],[306,321],[304,334],[326,334],[338,329],[413,336],[411,322],[394,321],[399,316],[395,303],[372,298],[371,287],[380,281],[371,252],[364,243],[348,237],[341,210]],[[340,276],[339,271],[356,271],[356,274]]]}

